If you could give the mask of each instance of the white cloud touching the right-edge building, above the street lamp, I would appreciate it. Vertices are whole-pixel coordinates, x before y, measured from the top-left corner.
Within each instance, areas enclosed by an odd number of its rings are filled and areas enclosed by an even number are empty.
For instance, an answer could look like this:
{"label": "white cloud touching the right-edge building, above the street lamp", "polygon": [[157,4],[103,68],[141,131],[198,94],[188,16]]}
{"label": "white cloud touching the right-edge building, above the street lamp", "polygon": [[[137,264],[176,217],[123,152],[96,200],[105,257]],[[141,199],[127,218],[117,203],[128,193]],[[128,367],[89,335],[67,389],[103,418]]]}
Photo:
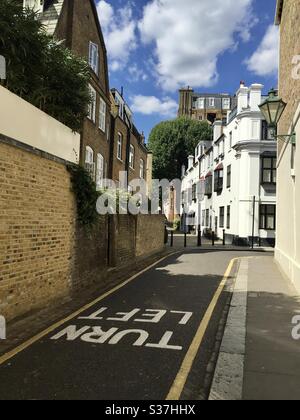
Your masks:
{"label": "white cloud touching the right-edge building, above the street lamp", "polygon": [[248,70],[258,76],[272,76],[278,73],[279,31],[274,25],[267,32],[255,53],[246,60]]}

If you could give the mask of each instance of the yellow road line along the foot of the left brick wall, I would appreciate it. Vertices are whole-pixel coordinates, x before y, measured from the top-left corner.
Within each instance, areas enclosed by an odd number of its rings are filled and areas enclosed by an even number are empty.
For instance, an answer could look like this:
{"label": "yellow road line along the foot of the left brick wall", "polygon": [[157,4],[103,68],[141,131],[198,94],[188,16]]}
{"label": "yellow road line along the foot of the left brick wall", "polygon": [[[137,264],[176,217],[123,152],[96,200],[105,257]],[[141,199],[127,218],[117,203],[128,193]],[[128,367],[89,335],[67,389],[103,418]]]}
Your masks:
{"label": "yellow road line along the foot of the left brick wall", "polygon": [[119,284],[118,286],[114,287],[113,289],[106,292],[104,295],[100,296],[99,298],[95,299],[93,302],[88,303],[87,305],[83,306],[82,308],[78,309],[76,312],[73,312],[71,315],[67,316],[66,318],[56,322],[55,324],[48,327],[46,330],[40,332],[39,334],[35,335],[34,337],[30,338],[29,340],[25,341],[20,346],[16,347],[15,349],[11,350],[10,352],[0,356],[0,365],[7,362],[12,357],[16,356],[18,353],[22,352],[23,350],[30,347],[32,344],[36,343],[37,341],[41,340],[46,335],[50,334],[52,331],[56,330],[57,328],[61,327],[63,324],[71,321],[73,318],[76,318],[82,312],[85,312],[87,309],[90,309],[96,303],[101,302],[103,299],[107,298],[108,296],[112,295],[122,287],[126,286],[126,284],[132,282],[137,277],[141,276],[142,274],[146,273],[147,271],[151,270],[151,268],[155,267],[165,259],[179,254],[180,251],[176,251],[172,254],[166,255],[165,257],[161,258],[160,260],[156,261],[155,263],[151,264],[149,267],[145,268],[144,270],[140,271],[139,273],[135,274],[134,276],[130,277],[128,280],[124,281],[123,283]]}

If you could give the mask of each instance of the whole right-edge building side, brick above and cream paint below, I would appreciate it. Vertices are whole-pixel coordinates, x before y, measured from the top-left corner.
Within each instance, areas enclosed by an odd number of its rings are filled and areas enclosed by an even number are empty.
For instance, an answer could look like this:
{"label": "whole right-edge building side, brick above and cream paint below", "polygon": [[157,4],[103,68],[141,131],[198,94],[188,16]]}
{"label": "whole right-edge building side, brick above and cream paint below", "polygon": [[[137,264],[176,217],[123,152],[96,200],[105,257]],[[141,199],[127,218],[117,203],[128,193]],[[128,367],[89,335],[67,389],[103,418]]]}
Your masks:
{"label": "whole right-edge building side, brick above and cream paint below", "polygon": [[296,133],[296,144],[278,139],[278,204],[275,257],[300,290],[300,3],[277,0],[280,28],[279,96],[287,107],[278,134]]}

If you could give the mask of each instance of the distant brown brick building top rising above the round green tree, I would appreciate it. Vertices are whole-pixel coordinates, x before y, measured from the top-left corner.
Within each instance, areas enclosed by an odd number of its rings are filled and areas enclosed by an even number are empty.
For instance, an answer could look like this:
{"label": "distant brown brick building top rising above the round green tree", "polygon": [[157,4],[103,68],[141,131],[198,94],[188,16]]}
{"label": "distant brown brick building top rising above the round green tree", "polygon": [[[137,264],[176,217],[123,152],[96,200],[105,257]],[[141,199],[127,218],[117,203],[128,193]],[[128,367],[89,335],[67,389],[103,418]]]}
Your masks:
{"label": "distant brown brick building top rising above the round green tree", "polygon": [[213,124],[217,120],[226,121],[235,105],[236,98],[229,94],[195,93],[188,87],[179,91],[178,116]]}

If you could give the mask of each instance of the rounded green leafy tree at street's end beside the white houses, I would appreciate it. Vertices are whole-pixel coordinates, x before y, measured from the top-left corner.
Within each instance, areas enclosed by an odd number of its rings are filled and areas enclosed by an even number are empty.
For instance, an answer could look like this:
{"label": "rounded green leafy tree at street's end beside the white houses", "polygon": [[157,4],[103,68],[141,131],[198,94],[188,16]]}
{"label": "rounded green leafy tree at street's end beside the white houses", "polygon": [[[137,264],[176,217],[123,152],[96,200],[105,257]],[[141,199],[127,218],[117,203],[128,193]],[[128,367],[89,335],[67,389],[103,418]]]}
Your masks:
{"label": "rounded green leafy tree at street's end beside the white houses", "polygon": [[206,121],[180,117],[158,124],[149,137],[154,177],[180,178],[182,165],[187,165],[187,158],[194,155],[197,144],[211,138],[212,128]]}

